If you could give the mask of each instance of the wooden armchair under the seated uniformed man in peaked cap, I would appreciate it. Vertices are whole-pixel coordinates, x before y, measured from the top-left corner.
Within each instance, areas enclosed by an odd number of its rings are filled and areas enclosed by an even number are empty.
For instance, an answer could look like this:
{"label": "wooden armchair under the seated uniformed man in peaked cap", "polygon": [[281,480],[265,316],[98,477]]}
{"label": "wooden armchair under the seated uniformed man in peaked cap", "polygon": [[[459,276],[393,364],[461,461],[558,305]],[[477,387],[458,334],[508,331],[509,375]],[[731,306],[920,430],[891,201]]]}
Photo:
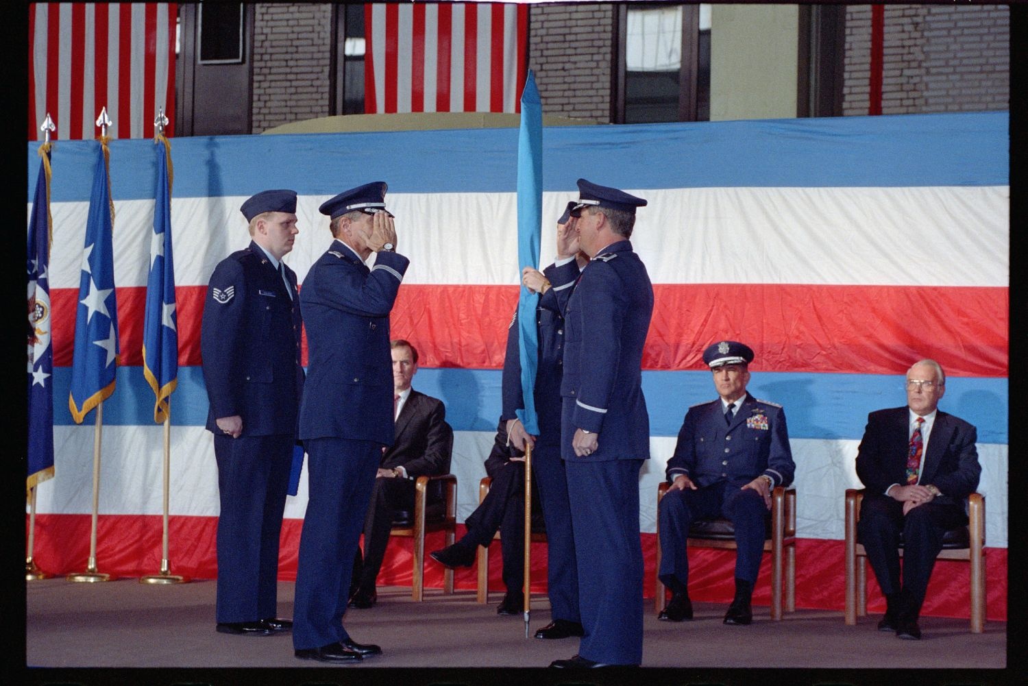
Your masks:
{"label": "wooden armchair under the seated uniformed man in peaked cap", "polygon": [[[657,507],[667,493],[666,481],[657,488]],[[771,517],[768,522],[764,551],[771,553],[771,619],[778,621],[782,613],[782,586],[785,611],[796,611],[796,489],[776,486],[771,492]],[[697,548],[736,549],[735,527],[724,518],[700,519],[689,528],[689,543]],[[657,516],[657,612],[667,604],[667,593],[660,581],[660,516]],[[784,577],[784,579],[783,579]],[[784,583],[783,583],[784,581]]]}

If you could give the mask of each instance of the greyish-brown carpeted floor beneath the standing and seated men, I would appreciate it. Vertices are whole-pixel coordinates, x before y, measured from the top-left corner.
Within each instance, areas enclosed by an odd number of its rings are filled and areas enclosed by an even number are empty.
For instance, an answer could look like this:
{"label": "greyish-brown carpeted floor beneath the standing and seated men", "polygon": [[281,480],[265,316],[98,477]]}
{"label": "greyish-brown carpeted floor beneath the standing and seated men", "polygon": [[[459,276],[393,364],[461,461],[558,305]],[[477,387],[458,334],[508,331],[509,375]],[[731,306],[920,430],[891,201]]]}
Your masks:
{"label": "greyish-brown carpeted floor beneath the standing and seated men", "polygon": [[[373,667],[488,667],[490,683],[501,683],[499,675],[510,674],[494,667],[540,667],[554,659],[571,657],[577,652],[578,640],[539,641],[524,638],[521,617],[501,617],[495,613],[500,593],[492,593],[488,605],[475,602],[472,590],[458,590],[445,595],[439,589],[426,591],[423,603],[410,599],[409,588],[379,588],[378,604],[369,610],[350,610],[346,627],[354,640],[376,643],[384,654],[352,666],[325,667],[293,656],[289,635],[270,637],[236,637],[214,630],[215,583],[193,581],[167,586],[140,584],[135,579],[107,583],[72,583],[63,578],[26,583],[27,624],[26,660],[30,667],[115,667],[104,673],[30,670],[39,677],[36,683],[119,683],[121,667],[191,667],[215,669],[217,679],[195,676],[172,681],[149,679],[150,684],[220,684],[265,683],[259,679],[235,681],[221,667],[288,667],[292,675],[285,680],[266,683],[354,683],[362,681],[358,672],[369,672],[378,683],[415,683],[410,673],[397,680],[400,671]],[[293,583],[279,584],[279,615],[292,616]],[[530,629],[544,626],[550,620],[545,595],[534,597]],[[990,621],[985,634],[972,635],[965,619],[926,617],[921,620],[924,638],[920,642],[902,641],[891,634],[875,630],[879,617],[860,618],[856,626],[846,626],[840,612],[803,610],[786,613],[780,622],[772,622],[766,607],[755,608],[750,626],[726,626],[722,623],[723,605],[699,603],[696,618],[691,622],[657,621],[647,601],[645,619],[645,667],[673,667],[670,671],[646,671],[636,675],[652,676],[657,683],[671,675],[674,683],[739,683],[756,674],[790,677],[787,683],[864,683],[876,673],[872,670],[912,669],[910,676],[927,677],[945,671],[950,677],[945,683],[998,683],[1008,674],[1006,666],[1006,624]],[[296,673],[295,667],[320,667]],[[777,667],[779,672],[767,673]],[[849,670],[843,677],[816,672],[807,677],[792,670]],[[725,670],[728,670],[725,672]],[[926,672],[918,673],[918,670]],[[971,678],[971,673],[952,670],[986,671],[984,677]],[[999,670],[999,672],[993,672]],[[707,671],[712,671],[707,675]],[[610,676],[597,680],[596,671],[589,678],[576,673],[541,671],[517,672],[522,676],[540,674],[533,681],[549,683],[608,683]],[[621,671],[624,672],[624,671]],[[50,675],[46,681],[41,675]],[[98,675],[103,674],[101,681]],[[152,677],[156,672],[151,671]],[[183,675],[186,673],[175,673]],[[238,673],[253,675],[254,672]],[[270,674],[270,673],[268,673]],[[479,683],[480,671],[426,672],[424,683]],[[846,678],[845,675],[858,678]],[[74,676],[67,681],[54,678]],[[236,675],[236,676],[238,676]],[[327,676],[326,676],[327,675]],[[466,679],[464,677],[466,677]],[[961,675],[958,677],[958,675]],[[267,676],[267,674],[263,675]],[[832,678],[825,679],[831,676]],[[884,679],[884,675],[882,676]],[[316,678],[317,677],[317,678]],[[989,677],[988,679],[985,679]],[[218,679],[230,679],[219,681]],[[207,679],[205,681],[205,679]],[[327,679],[327,681],[326,681]],[[561,682],[560,679],[563,679]],[[704,681],[706,679],[706,681]],[[888,680],[874,679],[874,683]],[[983,679],[985,679],[983,681]],[[130,683],[124,681],[123,683]],[[516,682],[515,682],[516,683]],[[619,683],[617,680],[611,683]],[[627,683],[623,680],[620,683]],[[778,681],[778,683],[783,683]],[[907,679],[907,683],[920,683]],[[935,682],[926,682],[935,683]],[[939,682],[943,683],[943,682]]]}

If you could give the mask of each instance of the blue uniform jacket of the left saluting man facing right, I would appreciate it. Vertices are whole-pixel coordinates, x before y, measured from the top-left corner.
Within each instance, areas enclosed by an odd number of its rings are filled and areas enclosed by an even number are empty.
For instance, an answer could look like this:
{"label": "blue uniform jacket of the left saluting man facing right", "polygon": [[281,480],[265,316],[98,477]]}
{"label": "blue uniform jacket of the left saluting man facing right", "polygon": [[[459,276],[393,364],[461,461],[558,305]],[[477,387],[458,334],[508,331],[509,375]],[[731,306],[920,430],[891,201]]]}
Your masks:
{"label": "blue uniform jacket of the left saluting man facing right", "polygon": [[307,381],[300,438],[392,445],[393,360],[389,315],[409,260],[382,251],[370,269],[333,241],[300,292],[307,329]]}

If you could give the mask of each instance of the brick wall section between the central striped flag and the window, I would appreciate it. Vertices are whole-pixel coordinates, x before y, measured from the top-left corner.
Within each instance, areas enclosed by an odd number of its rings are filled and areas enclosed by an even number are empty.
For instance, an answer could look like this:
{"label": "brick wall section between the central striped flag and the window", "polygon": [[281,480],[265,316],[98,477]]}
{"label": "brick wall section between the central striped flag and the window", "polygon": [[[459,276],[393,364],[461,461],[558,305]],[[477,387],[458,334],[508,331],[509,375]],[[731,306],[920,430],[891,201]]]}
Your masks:
{"label": "brick wall section between the central striped flag and the window", "polygon": [[543,111],[611,120],[614,65],[613,4],[534,5],[528,20],[528,67]]}

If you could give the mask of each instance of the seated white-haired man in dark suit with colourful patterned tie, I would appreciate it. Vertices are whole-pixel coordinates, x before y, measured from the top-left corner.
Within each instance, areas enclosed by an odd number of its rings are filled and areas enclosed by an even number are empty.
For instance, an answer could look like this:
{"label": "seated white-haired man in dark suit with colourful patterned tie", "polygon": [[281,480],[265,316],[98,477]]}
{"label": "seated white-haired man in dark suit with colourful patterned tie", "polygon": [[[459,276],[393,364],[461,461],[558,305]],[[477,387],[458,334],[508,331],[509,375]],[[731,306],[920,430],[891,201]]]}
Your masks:
{"label": "seated white-haired man in dark suit with colourful patterned tie", "polygon": [[942,366],[934,360],[915,363],[907,371],[907,406],[871,412],[856,454],[856,475],[867,486],[857,540],[886,603],[878,630],[901,639],[921,638],[917,617],[943,534],[967,523],[964,501],[982,473],[978,433],[939,410],[945,393]]}

